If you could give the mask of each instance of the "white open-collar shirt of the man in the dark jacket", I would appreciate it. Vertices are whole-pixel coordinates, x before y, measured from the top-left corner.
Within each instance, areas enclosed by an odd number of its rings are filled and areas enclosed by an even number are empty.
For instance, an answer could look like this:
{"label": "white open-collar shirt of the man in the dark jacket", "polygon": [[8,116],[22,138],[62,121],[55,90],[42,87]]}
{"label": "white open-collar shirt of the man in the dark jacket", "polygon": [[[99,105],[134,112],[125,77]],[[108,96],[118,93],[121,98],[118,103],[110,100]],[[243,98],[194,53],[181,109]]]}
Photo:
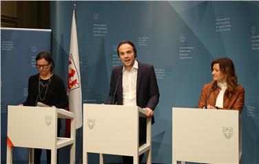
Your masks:
{"label": "white open-collar shirt of the man in the dark jacket", "polygon": [[138,75],[138,62],[135,60],[130,71],[123,66],[123,105],[136,106],[136,78]]}

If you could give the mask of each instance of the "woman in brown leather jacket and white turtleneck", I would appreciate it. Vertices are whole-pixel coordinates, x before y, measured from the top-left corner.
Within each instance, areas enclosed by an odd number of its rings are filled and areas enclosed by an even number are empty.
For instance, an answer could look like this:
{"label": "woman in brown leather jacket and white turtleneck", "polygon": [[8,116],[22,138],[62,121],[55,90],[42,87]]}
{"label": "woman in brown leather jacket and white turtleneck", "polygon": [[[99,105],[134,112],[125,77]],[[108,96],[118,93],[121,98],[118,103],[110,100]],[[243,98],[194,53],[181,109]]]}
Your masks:
{"label": "woman in brown leather jacket and white turtleneck", "polygon": [[213,80],[203,86],[198,108],[231,109],[242,112],[245,89],[238,84],[234,63],[230,58],[211,62]]}

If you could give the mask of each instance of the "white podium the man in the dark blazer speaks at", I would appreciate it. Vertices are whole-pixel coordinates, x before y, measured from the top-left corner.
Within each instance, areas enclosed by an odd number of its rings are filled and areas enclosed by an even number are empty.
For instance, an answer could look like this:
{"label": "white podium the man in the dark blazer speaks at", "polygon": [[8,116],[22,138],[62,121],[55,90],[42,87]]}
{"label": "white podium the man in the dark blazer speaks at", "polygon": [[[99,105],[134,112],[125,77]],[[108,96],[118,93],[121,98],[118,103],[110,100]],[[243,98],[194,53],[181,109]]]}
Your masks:
{"label": "white podium the man in the dark blazer speaks at", "polygon": [[83,163],[88,153],[138,156],[147,152],[147,163],[152,163],[151,118],[147,118],[147,142],[138,146],[138,118],[147,112],[138,106],[83,104]]}

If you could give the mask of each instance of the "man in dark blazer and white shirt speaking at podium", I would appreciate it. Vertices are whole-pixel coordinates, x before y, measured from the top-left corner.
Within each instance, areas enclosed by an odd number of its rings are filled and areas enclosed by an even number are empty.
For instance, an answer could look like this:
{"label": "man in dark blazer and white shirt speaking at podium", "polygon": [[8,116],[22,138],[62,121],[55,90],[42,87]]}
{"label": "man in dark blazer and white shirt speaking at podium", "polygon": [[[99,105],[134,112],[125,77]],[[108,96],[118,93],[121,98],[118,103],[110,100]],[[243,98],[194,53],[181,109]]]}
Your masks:
{"label": "man in dark blazer and white shirt speaking at podium", "polygon": [[[128,40],[123,40],[117,47],[117,54],[123,65],[114,67],[110,80],[110,93],[106,104],[139,106],[152,117],[159,101],[158,84],[152,65],[136,60],[136,47]],[[139,120],[139,145],[146,141],[146,119]],[[139,156],[140,163],[143,154]],[[133,163],[132,156],[123,156],[124,163]]]}

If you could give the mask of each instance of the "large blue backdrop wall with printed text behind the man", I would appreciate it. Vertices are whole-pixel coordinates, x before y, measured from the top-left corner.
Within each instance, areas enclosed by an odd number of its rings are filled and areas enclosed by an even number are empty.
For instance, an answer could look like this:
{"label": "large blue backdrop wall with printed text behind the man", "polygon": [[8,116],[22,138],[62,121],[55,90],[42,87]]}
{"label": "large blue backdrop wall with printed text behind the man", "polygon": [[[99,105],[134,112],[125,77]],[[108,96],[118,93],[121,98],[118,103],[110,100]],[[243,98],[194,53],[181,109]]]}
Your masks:
{"label": "large blue backdrop wall with printed text behind the man", "polygon": [[[153,163],[172,163],[172,106],[196,108],[203,84],[212,80],[211,61],[224,56],[234,61],[245,88],[243,163],[259,163],[257,1],[52,1],[52,51],[64,78],[74,3],[84,103],[105,103],[112,67],[121,65],[116,54],[121,40],[132,40],[137,59],[154,65],[160,102]],[[82,143],[76,144],[80,162]],[[121,160],[108,157],[107,163]],[[98,161],[90,156],[90,163]]]}

